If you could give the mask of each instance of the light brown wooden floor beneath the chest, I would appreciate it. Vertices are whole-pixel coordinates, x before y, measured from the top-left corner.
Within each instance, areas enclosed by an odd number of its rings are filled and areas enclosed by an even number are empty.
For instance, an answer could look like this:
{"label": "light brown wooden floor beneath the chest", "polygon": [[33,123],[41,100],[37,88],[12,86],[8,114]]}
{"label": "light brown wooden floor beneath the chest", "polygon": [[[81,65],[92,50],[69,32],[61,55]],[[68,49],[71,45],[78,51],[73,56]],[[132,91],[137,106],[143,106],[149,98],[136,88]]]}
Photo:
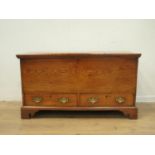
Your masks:
{"label": "light brown wooden floor beneath the chest", "polygon": [[155,103],[137,104],[137,120],[118,112],[39,112],[35,118],[20,118],[20,102],[0,102],[0,134],[136,135],[155,134]]}

